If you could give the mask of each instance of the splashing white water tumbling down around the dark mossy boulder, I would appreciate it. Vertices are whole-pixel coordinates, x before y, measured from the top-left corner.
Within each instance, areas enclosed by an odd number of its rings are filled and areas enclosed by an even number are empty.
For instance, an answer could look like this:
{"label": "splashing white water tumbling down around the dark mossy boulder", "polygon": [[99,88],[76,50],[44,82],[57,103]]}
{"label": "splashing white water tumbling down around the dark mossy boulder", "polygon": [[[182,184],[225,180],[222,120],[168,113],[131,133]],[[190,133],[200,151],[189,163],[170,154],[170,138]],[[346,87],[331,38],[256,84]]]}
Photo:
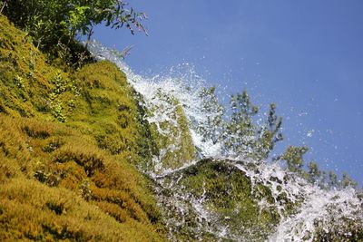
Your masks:
{"label": "splashing white water tumbling down around the dark mossy boulder", "polygon": [[[218,132],[218,127],[211,127],[208,121],[220,113],[203,109],[205,101],[200,93],[205,82],[192,68],[178,77],[170,74],[148,78],[132,73],[113,50],[97,42],[89,44],[89,48],[98,59],[109,60],[126,73],[128,82],[136,92],[142,94],[142,105],[149,111],[144,118],[154,124],[162,136],[171,135],[170,127],[178,127],[179,123],[175,119],[177,109],[181,109],[188,120],[191,140],[198,157],[176,168],[164,167],[162,156],[178,149],[177,146],[180,144],[175,142],[161,150],[159,157],[154,157],[152,169],[143,170],[158,186],[158,200],[164,208],[165,224],[170,229],[170,239],[181,240],[182,238],[176,234],[185,224],[189,224],[189,233],[196,239],[202,239],[202,234],[209,233],[219,240],[232,241],[330,241],[331,233],[346,237],[345,241],[349,241],[349,238],[357,235],[349,234],[346,225],[358,227],[355,231],[363,233],[363,202],[357,190],[320,189],[282,169],[278,162],[261,162],[236,156],[233,152],[226,152],[223,142],[206,139],[206,131]],[[162,125],[165,122],[169,125]],[[180,140],[182,131],[174,135],[175,140]],[[218,213],[208,208],[205,183],[202,183],[199,194],[189,192],[185,188],[182,181],[187,173],[184,171],[200,166],[205,160],[222,162],[243,172],[250,179],[252,192],[257,190],[260,184],[270,189],[273,203],[265,199],[258,202],[260,210],[272,206],[278,211],[280,222],[271,230],[270,236],[252,239],[246,238],[245,233],[232,231],[229,223],[231,218],[221,218]],[[168,192],[165,192],[166,190]],[[288,211],[288,201],[297,207],[293,212]]]}

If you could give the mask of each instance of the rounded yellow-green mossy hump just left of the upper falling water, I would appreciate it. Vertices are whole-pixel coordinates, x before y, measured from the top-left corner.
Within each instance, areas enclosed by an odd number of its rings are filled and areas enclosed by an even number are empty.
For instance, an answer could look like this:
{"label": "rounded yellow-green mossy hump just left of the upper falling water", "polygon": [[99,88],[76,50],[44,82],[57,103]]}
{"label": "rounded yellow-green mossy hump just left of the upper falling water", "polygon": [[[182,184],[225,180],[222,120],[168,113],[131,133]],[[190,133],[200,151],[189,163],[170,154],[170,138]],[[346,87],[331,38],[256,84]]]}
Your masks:
{"label": "rounded yellow-green mossy hump just left of the upper falling water", "polygon": [[[92,132],[102,149],[140,161],[152,152],[148,124],[125,75],[108,62],[85,66],[76,78],[82,83],[83,99],[77,103],[69,125]],[[137,156],[135,156],[137,155]]]}

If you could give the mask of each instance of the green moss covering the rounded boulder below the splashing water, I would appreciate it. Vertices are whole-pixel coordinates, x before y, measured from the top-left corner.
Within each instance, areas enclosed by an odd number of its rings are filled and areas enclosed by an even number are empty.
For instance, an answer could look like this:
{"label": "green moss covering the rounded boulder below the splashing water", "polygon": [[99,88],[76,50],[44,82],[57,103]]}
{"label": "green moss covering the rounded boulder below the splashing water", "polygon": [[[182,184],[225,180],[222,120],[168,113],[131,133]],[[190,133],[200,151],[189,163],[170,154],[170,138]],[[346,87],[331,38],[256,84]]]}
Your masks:
{"label": "green moss covering the rounded boulder below the splashing water", "polygon": [[[178,180],[177,185],[175,180]],[[168,181],[173,185],[172,190],[164,193],[166,196],[173,196],[174,192],[182,190],[184,194],[191,193],[194,198],[203,197],[203,208],[211,213],[213,221],[217,223],[210,226],[228,226],[232,235],[260,241],[267,239],[280,222],[270,189],[260,184],[252,188],[250,178],[227,162],[201,160],[166,177],[166,188]],[[265,200],[266,206],[260,206],[261,200]],[[190,234],[193,227],[195,225],[185,225],[176,232],[183,237]]]}

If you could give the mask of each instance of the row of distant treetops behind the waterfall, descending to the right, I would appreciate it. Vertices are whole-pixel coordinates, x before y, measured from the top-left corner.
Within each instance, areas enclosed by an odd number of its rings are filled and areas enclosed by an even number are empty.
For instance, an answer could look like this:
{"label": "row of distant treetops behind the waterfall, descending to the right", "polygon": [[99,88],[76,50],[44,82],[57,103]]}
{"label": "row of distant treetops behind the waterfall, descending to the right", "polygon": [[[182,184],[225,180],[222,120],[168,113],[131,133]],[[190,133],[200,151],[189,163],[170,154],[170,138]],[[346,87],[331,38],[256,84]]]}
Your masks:
{"label": "row of distant treetops behind the waterfall, descending to the right", "polygon": [[[276,105],[270,104],[270,111],[265,121],[260,124],[256,118],[260,118],[259,107],[250,101],[250,96],[246,91],[231,96],[231,115],[226,118],[226,111],[218,102],[215,96],[215,88],[204,90],[201,97],[205,100],[204,110],[217,113],[216,116],[209,117],[205,127],[201,131],[206,132],[206,139],[213,142],[222,142],[226,152],[232,152],[236,156],[244,156],[253,160],[266,160],[270,157],[275,144],[283,140],[280,132],[282,118],[276,114]],[[216,127],[207,130],[206,127]],[[307,163],[304,154],[308,148],[289,146],[281,155],[272,157],[272,160],[280,161],[286,168],[309,180],[312,184],[317,184],[323,189],[347,188],[357,186],[357,182],[343,174],[342,179],[329,171],[319,170],[318,164],[314,161]],[[306,167],[307,166],[307,167]]]}

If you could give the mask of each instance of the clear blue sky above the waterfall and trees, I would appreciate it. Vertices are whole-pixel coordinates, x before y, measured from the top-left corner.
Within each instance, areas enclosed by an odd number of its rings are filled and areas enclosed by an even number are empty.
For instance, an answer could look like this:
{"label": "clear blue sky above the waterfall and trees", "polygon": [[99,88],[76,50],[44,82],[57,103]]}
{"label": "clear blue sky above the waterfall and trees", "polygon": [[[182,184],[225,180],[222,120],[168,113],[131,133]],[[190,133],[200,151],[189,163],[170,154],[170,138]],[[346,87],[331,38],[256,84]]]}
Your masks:
{"label": "clear blue sky above the waterfall and trees", "polygon": [[307,160],[363,184],[363,1],[129,1],[150,36],[98,27],[93,37],[122,50],[135,73],[191,63],[225,93],[245,88],[275,102],[287,144]]}

